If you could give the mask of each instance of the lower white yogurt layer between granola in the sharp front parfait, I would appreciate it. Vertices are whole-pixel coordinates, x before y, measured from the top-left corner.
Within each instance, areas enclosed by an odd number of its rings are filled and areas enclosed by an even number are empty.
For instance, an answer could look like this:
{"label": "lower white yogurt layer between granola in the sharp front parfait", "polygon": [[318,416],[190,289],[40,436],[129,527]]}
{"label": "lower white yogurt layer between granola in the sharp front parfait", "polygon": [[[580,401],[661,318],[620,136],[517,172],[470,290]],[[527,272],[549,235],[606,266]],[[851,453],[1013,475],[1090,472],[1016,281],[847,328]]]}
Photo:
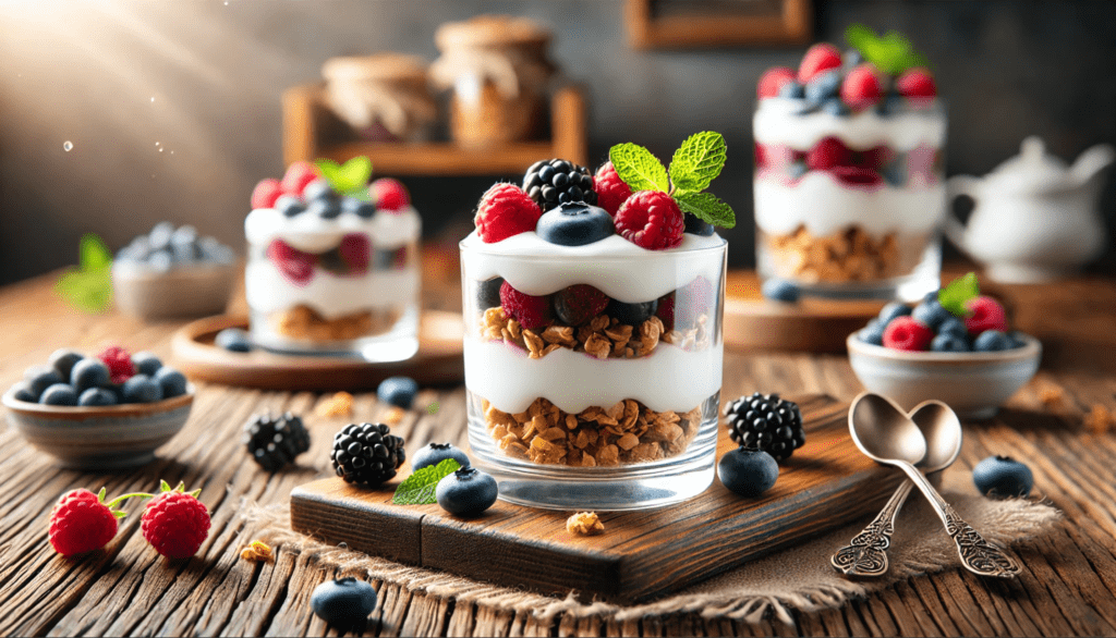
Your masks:
{"label": "lower white yogurt layer between granola in the sharp front parfait", "polygon": [[526,410],[538,397],[560,409],[605,409],[626,398],[655,412],[687,412],[721,389],[722,348],[686,351],[660,342],[650,356],[597,359],[558,348],[540,359],[503,341],[464,340],[465,387],[497,409]]}

